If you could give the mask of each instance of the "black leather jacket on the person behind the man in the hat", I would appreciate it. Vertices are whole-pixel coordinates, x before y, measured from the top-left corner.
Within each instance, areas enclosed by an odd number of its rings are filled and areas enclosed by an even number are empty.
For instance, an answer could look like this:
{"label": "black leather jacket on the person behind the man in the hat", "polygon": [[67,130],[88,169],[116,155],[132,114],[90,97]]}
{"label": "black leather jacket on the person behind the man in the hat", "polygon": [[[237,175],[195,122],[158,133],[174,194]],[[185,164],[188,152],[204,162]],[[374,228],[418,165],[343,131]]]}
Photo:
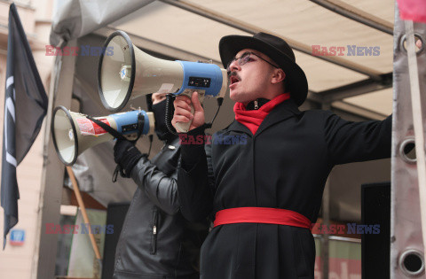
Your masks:
{"label": "black leather jacket on the person behind the man in the hat", "polygon": [[138,188],[115,252],[114,278],[199,278],[200,248],[208,221],[189,222],[177,199],[178,138],[150,162],[132,169]]}

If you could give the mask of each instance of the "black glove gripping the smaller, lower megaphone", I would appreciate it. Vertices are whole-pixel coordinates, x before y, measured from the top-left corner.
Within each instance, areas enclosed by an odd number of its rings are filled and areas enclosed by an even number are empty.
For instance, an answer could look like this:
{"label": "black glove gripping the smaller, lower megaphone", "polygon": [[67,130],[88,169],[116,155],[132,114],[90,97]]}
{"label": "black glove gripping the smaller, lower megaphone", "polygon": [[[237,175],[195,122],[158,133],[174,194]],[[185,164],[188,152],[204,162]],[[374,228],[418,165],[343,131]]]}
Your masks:
{"label": "black glove gripping the smaller, lower megaphone", "polygon": [[[119,140],[114,145],[114,161],[120,166],[120,174],[130,177],[130,172],[144,155],[138,151],[135,144],[126,140]],[[146,156],[146,155],[145,155]]]}

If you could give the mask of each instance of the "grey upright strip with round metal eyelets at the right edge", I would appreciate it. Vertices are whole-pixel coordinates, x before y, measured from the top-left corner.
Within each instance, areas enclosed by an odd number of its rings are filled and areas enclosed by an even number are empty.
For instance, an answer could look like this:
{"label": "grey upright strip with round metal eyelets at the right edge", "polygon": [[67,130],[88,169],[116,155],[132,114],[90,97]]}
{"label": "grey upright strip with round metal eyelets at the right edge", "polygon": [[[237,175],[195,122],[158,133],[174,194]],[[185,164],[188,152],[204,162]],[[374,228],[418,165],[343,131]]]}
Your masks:
{"label": "grey upright strip with round metal eyelets at the right edge", "polygon": [[[407,26],[406,26],[407,24]],[[393,127],[391,157],[390,278],[424,278],[421,203],[424,195],[424,130],[426,100],[426,25],[404,22],[395,6],[393,61]],[[414,54],[413,35],[422,40]],[[418,70],[416,69],[418,65]],[[410,94],[410,91],[412,91]],[[414,137],[415,136],[415,137]],[[420,139],[420,141],[419,141]],[[420,147],[419,147],[420,146]],[[411,151],[415,147],[414,152]],[[420,187],[419,187],[420,186]],[[420,197],[420,198],[419,198]],[[423,208],[424,210],[424,208]],[[424,232],[424,230],[423,230]]]}

